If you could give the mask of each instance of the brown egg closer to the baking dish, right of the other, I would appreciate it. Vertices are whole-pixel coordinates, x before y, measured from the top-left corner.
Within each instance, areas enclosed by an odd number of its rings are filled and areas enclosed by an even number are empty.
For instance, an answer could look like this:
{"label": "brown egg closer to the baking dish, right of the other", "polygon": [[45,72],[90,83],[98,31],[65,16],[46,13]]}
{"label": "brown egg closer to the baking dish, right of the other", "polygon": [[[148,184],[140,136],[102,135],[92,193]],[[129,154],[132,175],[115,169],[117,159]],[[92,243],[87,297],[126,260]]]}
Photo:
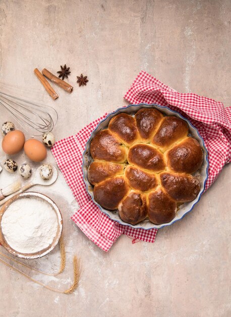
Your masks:
{"label": "brown egg closer to the baking dish, right of the other", "polygon": [[46,158],[46,148],[38,140],[29,139],[24,144],[24,151],[31,161],[41,162]]}

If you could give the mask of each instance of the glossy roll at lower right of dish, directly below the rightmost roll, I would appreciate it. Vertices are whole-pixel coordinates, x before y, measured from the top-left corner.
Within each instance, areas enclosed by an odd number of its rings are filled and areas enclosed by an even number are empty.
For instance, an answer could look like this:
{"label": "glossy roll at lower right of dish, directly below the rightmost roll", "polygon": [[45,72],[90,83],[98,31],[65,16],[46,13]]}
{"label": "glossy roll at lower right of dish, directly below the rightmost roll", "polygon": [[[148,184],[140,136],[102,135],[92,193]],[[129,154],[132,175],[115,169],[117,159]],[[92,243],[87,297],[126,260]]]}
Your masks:
{"label": "glossy roll at lower right of dish, directly below the rightmost roll", "polygon": [[191,202],[200,191],[200,181],[190,174],[161,173],[161,185],[177,202]]}

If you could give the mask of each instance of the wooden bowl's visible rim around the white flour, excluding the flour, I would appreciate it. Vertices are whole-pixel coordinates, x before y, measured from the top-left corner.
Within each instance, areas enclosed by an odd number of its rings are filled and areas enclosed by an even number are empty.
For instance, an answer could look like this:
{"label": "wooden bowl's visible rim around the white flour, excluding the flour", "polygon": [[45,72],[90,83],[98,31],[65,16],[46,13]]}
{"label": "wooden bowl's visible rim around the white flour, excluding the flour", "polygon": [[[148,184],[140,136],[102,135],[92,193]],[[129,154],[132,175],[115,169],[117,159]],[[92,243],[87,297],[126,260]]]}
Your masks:
{"label": "wooden bowl's visible rim around the white flour, excluding the flour", "polygon": [[[45,248],[39,252],[36,252],[36,253],[21,253],[21,252],[14,250],[13,248],[11,248],[11,246],[9,246],[9,244],[5,240],[5,237],[4,237],[3,232],[2,232],[1,222],[2,222],[2,217],[5,213],[5,211],[13,202],[15,202],[18,199],[22,199],[24,197],[36,197],[37,199],[41,199],[41,200],[45,201],[53,208],[53,210],[57,216],[57,232],[56,232],[56,235],[53,239],[53,242],[47,248]],[[37,258],[41,258],[44,255],[48,254],[56,247],[57,243],[60,240],[62,231],[63,231],[63,218],[62,218],[60,209],[57,207],[57,205],[49,197],[47,197],[46,195],[41,194],[39,192],[29,191],[29,192],[23,192],[21,194],[15,195],[8,202],[6,202],[2,206],[2,209],[0,210],[0,243],[9,253],[11,253],[14,256],[17,256],[19,258],[37,259]]]}

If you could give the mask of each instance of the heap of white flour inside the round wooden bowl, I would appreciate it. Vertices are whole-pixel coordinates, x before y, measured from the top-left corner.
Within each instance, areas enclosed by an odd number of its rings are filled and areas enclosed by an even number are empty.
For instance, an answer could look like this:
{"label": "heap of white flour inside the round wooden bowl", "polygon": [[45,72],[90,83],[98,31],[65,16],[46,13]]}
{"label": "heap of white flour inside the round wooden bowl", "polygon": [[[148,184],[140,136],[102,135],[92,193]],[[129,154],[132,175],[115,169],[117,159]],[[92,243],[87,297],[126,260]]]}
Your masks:
{"label": "heap of white flour inside the round wooden bowl", "polygon": [[25,197],[8,207],[1,226],[7,243],[14,250],[34,253],[52,243],[57,232],[57,216],[45,201]]}

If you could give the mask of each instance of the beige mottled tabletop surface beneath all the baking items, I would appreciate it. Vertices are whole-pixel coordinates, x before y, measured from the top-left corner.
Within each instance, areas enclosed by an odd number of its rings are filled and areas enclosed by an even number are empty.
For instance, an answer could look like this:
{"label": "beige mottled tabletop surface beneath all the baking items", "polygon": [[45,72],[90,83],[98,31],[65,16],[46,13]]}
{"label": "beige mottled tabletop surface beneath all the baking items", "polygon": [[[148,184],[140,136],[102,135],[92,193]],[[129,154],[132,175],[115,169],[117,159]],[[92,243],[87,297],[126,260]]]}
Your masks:
{"label": "beige mottled tabletop surface beneath all the baking items", "polygon": [[[229,0],[2,0],[0,82],[57,109],[56,139],[123,105],[141,69],[229,106],[230,11]],[[74,91],[57,88],[60,98],[52,101],[33,69],[55,72],[64,63]],[[81,72],[89,76],[84,88],[76,84]],[[0,113],[1,122],[10,119]],[[16,160],[25,161],[22,154]],[[50,153],[47,161],[54,163]],[[15,178],[3,171],[0,187]],[[122,236],[107,254],[69,219],[77,204],[62,175],[50,188],[34,188],[49,194],[64,216],[68,265],[60,288],[72,281],[75,253],[83,261],[81,285],[71,296],[55,294],[0,263],[0,316],[230,316],[230,179],[226,166],[193,212],[161,229],[154,244],[132,245]],[[58,254],[31,263],[51,271]]]}

